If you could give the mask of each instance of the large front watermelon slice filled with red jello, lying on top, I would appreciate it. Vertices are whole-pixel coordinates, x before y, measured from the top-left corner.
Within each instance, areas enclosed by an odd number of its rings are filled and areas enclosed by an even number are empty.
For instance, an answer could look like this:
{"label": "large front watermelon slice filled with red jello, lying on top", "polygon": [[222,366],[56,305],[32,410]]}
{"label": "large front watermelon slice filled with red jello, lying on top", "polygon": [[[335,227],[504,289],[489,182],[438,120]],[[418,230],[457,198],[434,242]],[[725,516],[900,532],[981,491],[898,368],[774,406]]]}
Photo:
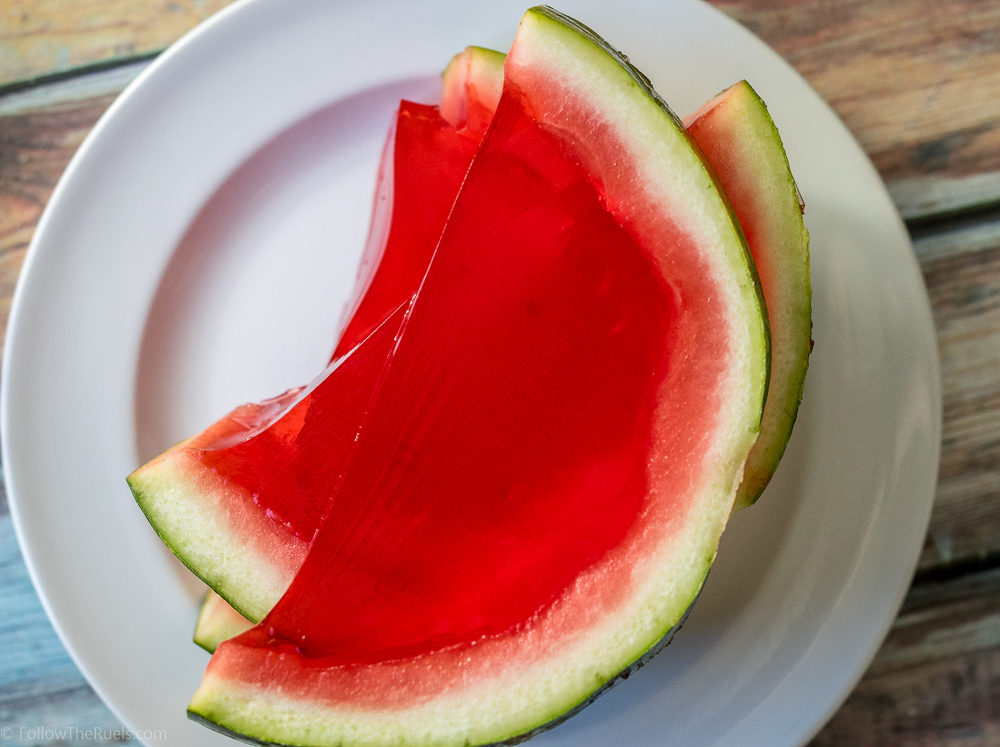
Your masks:
{"label": "large front watermelon slice filled with red jello, lying on top", "polygon": [[589,29],[529,11],[504,78],[327,519],[194,718],[285,744],[520,738],[701,588],[766,386],[746,244]]}

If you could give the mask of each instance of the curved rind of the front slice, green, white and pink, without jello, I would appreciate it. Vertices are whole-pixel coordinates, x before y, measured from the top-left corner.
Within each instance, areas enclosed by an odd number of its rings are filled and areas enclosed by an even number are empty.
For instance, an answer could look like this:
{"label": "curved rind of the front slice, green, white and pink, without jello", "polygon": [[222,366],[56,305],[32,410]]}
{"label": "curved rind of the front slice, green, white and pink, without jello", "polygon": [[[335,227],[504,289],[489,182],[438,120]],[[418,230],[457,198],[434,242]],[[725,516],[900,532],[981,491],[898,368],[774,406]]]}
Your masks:
{"label": "curved rind of the front slice, green, white and pink, without jello", "polygon": [[[680,120],[590,29],[550,8],[528,11],[506,62],[505,86],[522,92],[529,114],[563,137],[623,225],[643,237],[675,235],[682,227],[700,252],[687,259],[711,271],[697,287],[677,290],[696,293],[708,283],[720,311],[713,324],[723,327],[727,343],[721,361],[704,352],[717,340],[691,351],[697,364],[718,365],[721,373],[713,379],[718,406],[704,413],[707,435],[698,442],[704,448],[685,502],[674,514],[655,511],[672,505],[657,485],[674,469],[664,449],[676,436],[670,422],[654,416],[649,510],[622,547],[584,571],[523,630],[412,659],[326,668],[238,637],[213,656],[189,705],[195,720],[258,744],[513,744],[568,717],[665,645],[704,583],[757,438],[769,371],[767,320],[745,238]],[[595,131],[614,147],[589,142]],[[675,251],[650,247],[668,281],[671,271],[687,271]],[[690,373],[695,380],[698,371],[688,365],[681,356],[668,378]],[[680,405],[669,392],[658,395],[657,414],[674,406]],[[627,588],[611,589],[608,580],[623,567]],[[621,598],[597,614],[591,603],[602,589]],[[351,688],[358,699],[331,695]]]}

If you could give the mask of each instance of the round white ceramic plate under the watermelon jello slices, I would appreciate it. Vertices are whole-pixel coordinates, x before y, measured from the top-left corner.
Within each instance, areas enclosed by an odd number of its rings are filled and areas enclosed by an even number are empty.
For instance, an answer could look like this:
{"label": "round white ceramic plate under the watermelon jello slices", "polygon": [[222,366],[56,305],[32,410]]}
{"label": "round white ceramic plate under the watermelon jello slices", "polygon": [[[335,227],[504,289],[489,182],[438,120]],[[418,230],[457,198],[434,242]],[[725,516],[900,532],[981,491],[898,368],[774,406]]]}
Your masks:
{"label": "round white ceramic plate under the watermelon jello slices", "polygon": [[[773,52],[688,2],[567,0],[680,113],[739,78],[784,136],[812,233],[816,349],[795,437],[669,649],[538,745],[799,745],[881,641],[926,529],[940,393],[927,299],[870,163]],[[125,475],[329,354],[400,96],[506,49],[512,0],[257,0],[133,84],[35,234],[8,329],[3,459],[42,602],[150,744],[230,744],[185,705],[199,589]],[[155,737],[155,735],[152,735]]]}

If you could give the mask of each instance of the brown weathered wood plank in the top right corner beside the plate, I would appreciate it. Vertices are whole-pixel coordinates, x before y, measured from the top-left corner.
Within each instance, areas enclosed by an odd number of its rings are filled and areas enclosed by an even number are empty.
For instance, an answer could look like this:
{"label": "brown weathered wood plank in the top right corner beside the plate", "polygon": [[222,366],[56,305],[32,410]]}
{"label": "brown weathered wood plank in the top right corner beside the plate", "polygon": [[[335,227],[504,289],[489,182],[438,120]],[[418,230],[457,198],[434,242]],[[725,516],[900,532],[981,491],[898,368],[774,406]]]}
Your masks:
{"label": "brown weathered wood plank in the top right corner beside the plate", "polygon": [[711,2],[830,102],[904,217],[1000,200],[1000,3]]}

